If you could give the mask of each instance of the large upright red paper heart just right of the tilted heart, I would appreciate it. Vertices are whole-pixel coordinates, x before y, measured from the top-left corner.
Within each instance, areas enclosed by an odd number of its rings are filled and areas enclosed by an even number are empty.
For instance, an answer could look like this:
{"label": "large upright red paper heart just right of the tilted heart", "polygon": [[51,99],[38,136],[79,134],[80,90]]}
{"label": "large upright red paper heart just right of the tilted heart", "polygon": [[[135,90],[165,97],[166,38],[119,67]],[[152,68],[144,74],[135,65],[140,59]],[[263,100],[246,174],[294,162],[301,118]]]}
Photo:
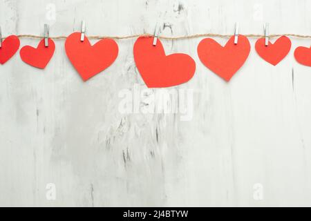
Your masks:
{"label": "large upright red paper heart just right of the tilted heart", "polygon": [[198,44],[198,57],[209,70],[226,81],[243,66],[250,51],[247,37],[238,35],[238,44],[234,44],[232,36],[223,47],[214,39],[203,39]]}

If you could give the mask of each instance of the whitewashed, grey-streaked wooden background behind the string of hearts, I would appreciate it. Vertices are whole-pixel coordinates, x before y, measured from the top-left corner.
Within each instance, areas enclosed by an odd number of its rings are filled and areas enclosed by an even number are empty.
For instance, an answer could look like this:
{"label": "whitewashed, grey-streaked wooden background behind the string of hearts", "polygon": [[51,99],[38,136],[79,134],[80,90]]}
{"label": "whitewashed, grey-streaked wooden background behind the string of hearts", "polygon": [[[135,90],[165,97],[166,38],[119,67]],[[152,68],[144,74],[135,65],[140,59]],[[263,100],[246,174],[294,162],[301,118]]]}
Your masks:
{"label": "whitewashed, grey-streaked wooden background behind the string of hearts", "polygon": [[[3,35],[202,32],[311,35],[311,1],[0,1]],[[55,11],[55,13],[54,13]],[[218,39],[222,44],[227,39]],[[120,112],[120,91],[144,89],[133,62],[135,39],[104,73],[82,82],[64,40],[46,70],[15,55],[0,66],[1,206],[311,206],[311,68],[278,66],[254,50],[229,84],[200,63],[200,39],[162,41],[196,60],[178,89],[194,90],[193,117]],[[38,44],[21,39],[21,46]],[[153,90],[155,92],[156,90]],[[55,184],[56,198],[46,195]],[[49,188],[49,187],[48,187]],[[256,197],[258,191],[262,198]]]}

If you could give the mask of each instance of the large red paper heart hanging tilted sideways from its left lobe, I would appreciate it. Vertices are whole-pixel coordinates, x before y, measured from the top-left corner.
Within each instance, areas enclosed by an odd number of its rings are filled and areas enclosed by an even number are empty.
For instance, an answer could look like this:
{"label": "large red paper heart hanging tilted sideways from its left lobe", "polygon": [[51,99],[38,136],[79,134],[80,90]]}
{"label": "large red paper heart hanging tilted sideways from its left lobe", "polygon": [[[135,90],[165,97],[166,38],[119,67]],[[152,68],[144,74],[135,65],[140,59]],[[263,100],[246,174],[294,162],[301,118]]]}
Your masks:
{"label": "large red paper heart hanging tilted sideways from its left lobe", "polygon": [[165,55],[161,41],[139,37],[134,44],[135,64],[149,88],[166,88],[185,83],[194,76],[196,63],[189,55]]}

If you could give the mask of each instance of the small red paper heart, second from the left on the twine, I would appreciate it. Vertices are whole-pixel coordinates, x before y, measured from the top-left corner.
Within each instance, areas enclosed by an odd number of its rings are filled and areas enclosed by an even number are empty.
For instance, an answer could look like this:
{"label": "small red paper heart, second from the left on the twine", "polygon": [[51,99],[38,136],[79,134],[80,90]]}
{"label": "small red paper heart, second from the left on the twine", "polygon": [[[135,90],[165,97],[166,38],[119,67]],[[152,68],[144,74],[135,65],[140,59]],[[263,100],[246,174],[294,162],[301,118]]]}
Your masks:
{"label": "small red paper heart, second from the left on the twine", "polygon": [[48,47],[44,46],[44,39],[39,42],[37,48],[32,46],[23,46],[19,55],[21,59],[30,66],[44,69],[48,61],[53,57],[55,51],[55,44],[52,39],[48,39]]}

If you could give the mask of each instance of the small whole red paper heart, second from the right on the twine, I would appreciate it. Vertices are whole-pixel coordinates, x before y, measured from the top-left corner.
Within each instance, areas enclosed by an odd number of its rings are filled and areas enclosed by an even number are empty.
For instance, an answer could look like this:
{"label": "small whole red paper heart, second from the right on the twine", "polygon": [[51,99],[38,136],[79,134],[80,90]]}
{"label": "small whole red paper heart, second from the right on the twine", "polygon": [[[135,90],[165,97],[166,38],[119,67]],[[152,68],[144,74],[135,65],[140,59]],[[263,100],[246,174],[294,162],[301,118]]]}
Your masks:
{"label": "small whole red paper heart, second from the right on the twine", "polygon": [[267,46],[265,46],[265,38],[258,39],[255,44],[258,55],[274,66],[288,55],[291,46],[292,42],[286,36],[279,37],[274,44],[269,41]]}

